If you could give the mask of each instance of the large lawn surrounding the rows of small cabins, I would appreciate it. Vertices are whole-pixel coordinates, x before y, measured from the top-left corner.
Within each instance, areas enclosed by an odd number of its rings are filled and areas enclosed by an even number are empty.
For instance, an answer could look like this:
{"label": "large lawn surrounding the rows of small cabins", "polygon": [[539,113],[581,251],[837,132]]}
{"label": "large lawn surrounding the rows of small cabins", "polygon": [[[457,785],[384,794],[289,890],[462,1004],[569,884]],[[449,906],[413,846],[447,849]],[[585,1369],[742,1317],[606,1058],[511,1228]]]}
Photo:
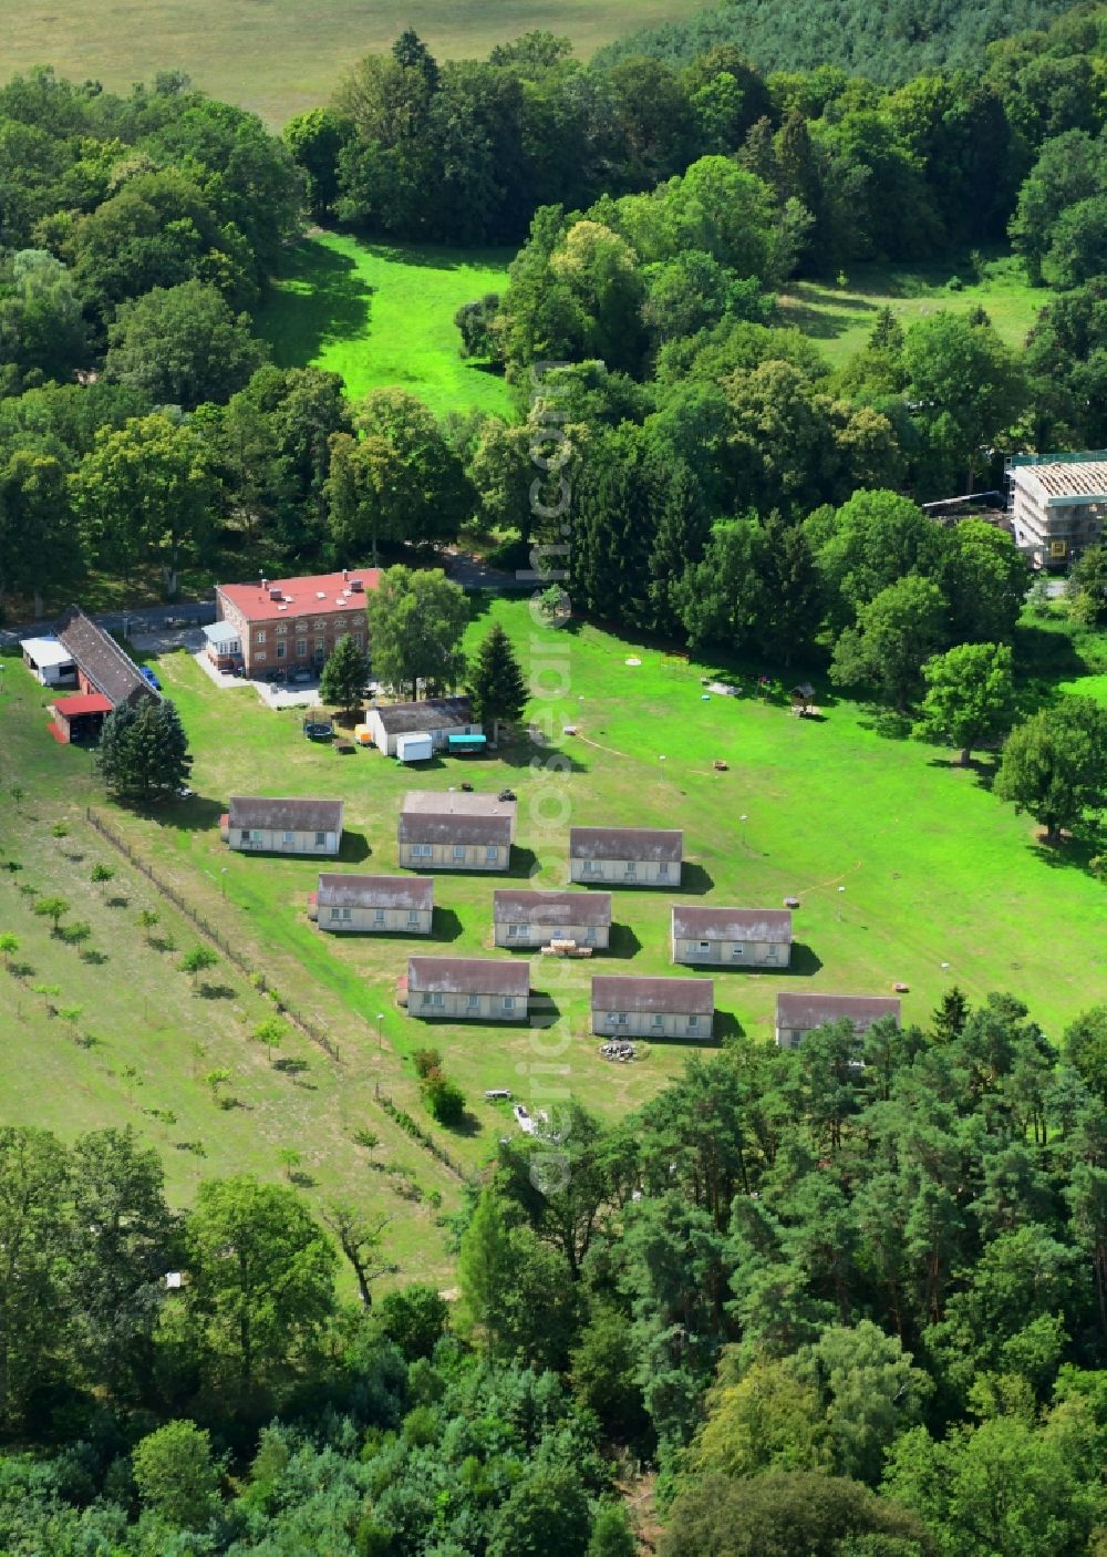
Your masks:
{"label": "large lawn surrounding the rows of small cabins", "polygon": [[[83,1006],[76,1026],[101,1043],[79,1048],[62,1018],[45,1015],[45,1000],[12,981],[5,998],[17,1020],[0,1048],[0,1118],[64,1133],[134,1123],[165,1152],[182,1199],[201,1174],[248,1168],[279,1177],[280,1151],[291,1146],[313,1180],[307,1194],[341,1191],[400,1213],[391,1230],[395,1258],[408,1275],[442,1277],[442,1233],[427,1202],[400,1200],[399,1180],[374,1172],[369,1154],[353,1143],[357,1127],[371,1127],[381,1137],[378,1158],[406,1165],[423,1190],[444,1194],[445,1208],[456,1202],[458,1180],[400,1135],[374,1098],[380,1085],[425,1118],[411,1065],[416,1046],[441,1048],[447,1073],[467,1093],[466,1130],[431,1129],[470,1168],[512,1129],[506,1105],[483,1099],[487,1087],[511,1087],[532,1109],[556,1101],[551,1087],[567,1087],[618,1118],[682,1067],[690,1051],[679,1043],[649,1045],[638,1063],[612,1067],[587,1031],[593,970],[671,972],[669,903],[677,894],[617,892],[606,958],[532,959],[532,987],[551,1001],[540,1020],[553,1026],[422,1023],[395,1004],[395,978],[409,951],[509,956],[492,951],[492,891],[504,878],[439,875],[430,942],[325,936],[305,916],[318,864],[246,858],[220,842],[220,811],[229,794],[243,791],[343,796],[344,866],[389,872],[408,786],[447,788],[469,778],[498,789],[509,782],[520,799],[515,877],[550,886],[565,880],[570,822],[684,827],[680,898],[775,906],[796,895],[802,903],[789,972],[716,975],[719,1040],[771,1042],[782,989],[881,993],[895,981],[909,986],[908,1020],[925,1021],[956,981],[975,1000],[996,989],[1015,992],[1056,1040],[1107,984],[1102,886],[1084,869],[1079,845],[1065,853],[1042,849],[1032,824],[989,793],[987,771],[961,771],[945,752],[881,733],[864,707],[836,702],[822,688],[822,721],[799,721],[752,696],[704,701],[699,676],[710,668],[669,662],[596,627],[536,631],[525,604],[495,603],[473,621],[472,638],[492,620],[515,638],[528,673],[556,693],[531,708],[553,744],[444,760],[417,774],[375,752],[339,757],[308,744],[297,715],[263,708],[246,688],[213,688],[182,652],[159,662],[193,741],[198,796],[156,819],[112,810],[112,821],[339,1045],[335,1065],[307,1040],[291,1039],[286,1054],[310,1067],[300,1076],[271,1068],[251,1042],[266,1007],[235,968],[221,964],[207,975],[216,986],[209,996],[176,968],[179,948],[195,944],[196,933],[163,902],[160,928],[177,951],[143,944],[135,916],[156,895],[84,824],[89,758],[50,741],[45,694],[8,662],[3,852],[23,870],[0,872],[0,928],[20,936],[19,956],[34,965],[36,979],[59,986],[58,1004]],[[632,657],[641,663],[627,665]],[[743,680],[750,687],[749,676]],[[1070,685],[1084,690],[1081,679]],[[564,736],[565,724],[579,733]],[[727,772],[713,769],[716,758],[729,763]],[[19,810],[9,803],[12,783],[26,796]],[[62,839],[51,833],[58,819],[70,828]],[[69,858],[73,852],[79,861]],[[89,873],[101,858],[118,875],[93,886]],[[19,895],[26,881],[72,902],[72,917],[93,925],[92,944],[107,956],[104,964],[83,962],[50,936]],[[106,905],[115,889],[126,906]],[[196,1043],[206,1045],[202,1059]],[[215,1107],[204,1082],[213,1065],[232,1071],[229,1090],[240,1109]],[[139,1079],[128,1077],[126,1067]],[[173,1109],[176,1123],[165,1126],[151,1107]],[[202,1141],[204,1158],[179,1148],[192,1140]]]}

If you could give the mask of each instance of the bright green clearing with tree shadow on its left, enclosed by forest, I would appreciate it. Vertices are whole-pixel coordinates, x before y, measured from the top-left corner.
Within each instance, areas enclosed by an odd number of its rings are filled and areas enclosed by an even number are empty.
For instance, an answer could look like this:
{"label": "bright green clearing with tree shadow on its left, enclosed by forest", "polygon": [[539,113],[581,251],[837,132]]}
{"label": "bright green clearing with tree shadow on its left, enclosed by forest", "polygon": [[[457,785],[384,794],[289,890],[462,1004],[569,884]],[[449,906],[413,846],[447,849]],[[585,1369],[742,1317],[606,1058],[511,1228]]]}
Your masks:
{"label": "bright green clearing with tree shadow on its left, enclosed by forest", "polygon": [[503,378],[461,355],[453,316],[501,291],[504,249],[431,249],[316,234],[291,251],[283,279],[257,315],[282,367],[338,372],[358,399],[400,385],[439,416],[509,414]]}

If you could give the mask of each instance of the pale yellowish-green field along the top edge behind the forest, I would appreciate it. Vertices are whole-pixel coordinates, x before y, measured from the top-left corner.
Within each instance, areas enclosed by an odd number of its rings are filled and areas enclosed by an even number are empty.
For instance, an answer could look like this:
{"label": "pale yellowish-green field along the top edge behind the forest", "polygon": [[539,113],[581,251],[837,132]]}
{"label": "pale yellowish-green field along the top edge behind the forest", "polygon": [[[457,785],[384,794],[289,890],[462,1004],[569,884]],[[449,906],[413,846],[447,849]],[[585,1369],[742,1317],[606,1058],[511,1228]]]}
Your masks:
{"label": "pale yellowish-green field along the top edge behind the forest", "polygon": [[391,48],[405,26],[442,59],[475,59],[545,28],[581,58],[620,33],[691,16],[699,0],[19,0],[5,6],[0,73],[51,64],[126,92],[159,70],[185,70],[213,97],[274,128],[325,103],[363,54]]}

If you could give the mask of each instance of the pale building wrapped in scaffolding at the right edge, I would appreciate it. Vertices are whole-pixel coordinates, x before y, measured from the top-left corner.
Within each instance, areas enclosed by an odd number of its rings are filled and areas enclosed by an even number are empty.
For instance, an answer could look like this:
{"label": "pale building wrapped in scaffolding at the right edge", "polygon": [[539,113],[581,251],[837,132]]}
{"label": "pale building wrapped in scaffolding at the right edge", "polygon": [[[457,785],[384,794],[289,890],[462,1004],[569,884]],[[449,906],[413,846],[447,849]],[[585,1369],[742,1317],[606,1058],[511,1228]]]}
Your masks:
{"label": "pale building wrapped in scaffolding at the right edge", "polygon": [[1017,455],[1007,461],[1015,545],[1038,568],[1060,568],[1099,540],[1107,514],[1107,450]]}

